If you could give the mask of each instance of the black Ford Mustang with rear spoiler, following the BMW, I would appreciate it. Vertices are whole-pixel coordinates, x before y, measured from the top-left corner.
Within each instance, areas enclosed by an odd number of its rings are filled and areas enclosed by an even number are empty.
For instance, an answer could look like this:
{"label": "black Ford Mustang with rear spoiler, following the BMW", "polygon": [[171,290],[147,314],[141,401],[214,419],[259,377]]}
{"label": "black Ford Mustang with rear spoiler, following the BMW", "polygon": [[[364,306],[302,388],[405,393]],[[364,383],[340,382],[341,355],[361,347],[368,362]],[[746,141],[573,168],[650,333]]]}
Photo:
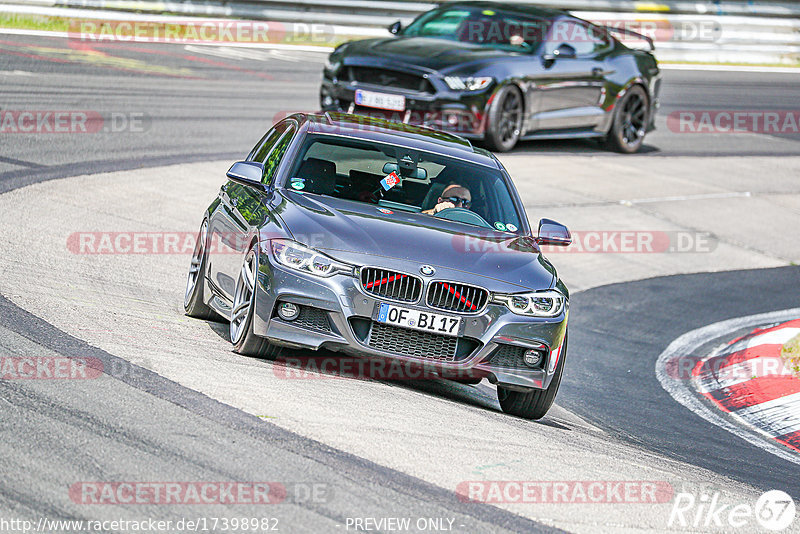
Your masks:
{"label": "black Ford Mustang with rear spoiler, following the BMW", "polygon": [[496,151],[520,139],[595,137],[632,153],[653,128],[660,73],[651,51],[564,11],[451,2],[390,32],[331,53],[323,110],[430,126]]}

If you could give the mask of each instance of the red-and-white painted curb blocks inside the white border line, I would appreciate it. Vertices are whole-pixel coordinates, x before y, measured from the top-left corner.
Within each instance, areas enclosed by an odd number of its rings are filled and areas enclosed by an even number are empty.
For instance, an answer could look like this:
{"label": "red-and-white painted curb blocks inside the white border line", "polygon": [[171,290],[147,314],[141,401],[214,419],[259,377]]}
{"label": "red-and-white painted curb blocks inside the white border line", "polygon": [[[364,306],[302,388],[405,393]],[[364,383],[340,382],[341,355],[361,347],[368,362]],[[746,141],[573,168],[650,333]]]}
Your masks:
{"label": "red-and-white painted curb blocks inside the white border line", "polygon": [[697,362],[692,382],[721,410],[800,451],[800,379],[783,364],[783,344],[800,319],[756,329]]}

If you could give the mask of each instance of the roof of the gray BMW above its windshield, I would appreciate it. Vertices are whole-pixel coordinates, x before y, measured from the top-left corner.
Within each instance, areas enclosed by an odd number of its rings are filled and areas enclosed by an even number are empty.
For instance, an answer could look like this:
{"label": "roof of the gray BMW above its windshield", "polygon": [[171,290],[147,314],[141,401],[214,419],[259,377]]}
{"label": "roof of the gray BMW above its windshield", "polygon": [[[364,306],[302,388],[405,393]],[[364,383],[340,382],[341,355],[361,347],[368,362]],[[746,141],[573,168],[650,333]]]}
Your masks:
{"label": "roof of the gray BMW above its windshield", "polygon": [[458,135],[424,126],[339,112],[303,114],[298,118],[301,122],[307,122],[309,133],[344,135],[389,144],[398,144],[401,138],[402,144],[411,149],[436,152],[499,168],[491,152],[472,146],[468,140]]}

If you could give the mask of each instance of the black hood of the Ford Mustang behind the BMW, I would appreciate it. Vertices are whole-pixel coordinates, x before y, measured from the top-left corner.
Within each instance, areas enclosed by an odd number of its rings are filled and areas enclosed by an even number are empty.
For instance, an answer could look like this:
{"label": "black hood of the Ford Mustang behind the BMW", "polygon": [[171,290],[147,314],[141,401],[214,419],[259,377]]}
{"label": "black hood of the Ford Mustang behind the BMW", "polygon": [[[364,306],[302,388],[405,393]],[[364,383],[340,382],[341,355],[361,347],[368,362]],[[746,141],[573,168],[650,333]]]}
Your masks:
{"label": "black hood of the Ford Mustang behind the BMW", "polygon": [[429,37],[365,39],[348,44],[344,50],[345,64],[347,58],[351,56],[372,56],[413,64],[434,71],[441,71],[453,66],[463,68],[468,63],[480,64],[496,61],[509,55],[511,55],[510,52],[502,50]]}

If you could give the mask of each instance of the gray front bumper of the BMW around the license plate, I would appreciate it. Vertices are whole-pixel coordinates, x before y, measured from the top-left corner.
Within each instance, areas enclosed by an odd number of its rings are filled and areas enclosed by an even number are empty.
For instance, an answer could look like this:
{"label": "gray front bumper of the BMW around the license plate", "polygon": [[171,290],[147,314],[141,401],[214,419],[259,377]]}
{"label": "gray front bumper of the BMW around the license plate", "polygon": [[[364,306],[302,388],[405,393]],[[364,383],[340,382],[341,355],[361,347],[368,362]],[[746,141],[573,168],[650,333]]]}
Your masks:
{"label": "gray front bumper of the BMW around the license plate", "polygon": [[[271,343],[295,349],[328,349],[357,357],[389,358],[409,365],[434,369],[447,377],[486,377],[491,383],[509,389],[543,389],[550,385],[561,357],[561,345],[567,327],[568,312],[554,318],[523,317],[505,306],[489,303],[477,314],[454,314],[428,308],[424,298],[417,304],[394,303],[362,290],[356,275],[337,274],[330,278],[296,272],[276,264],[268,253],[259,255],[253,331]],[[458,279],[457,272],[438,268],[435,279]],[[463,274],[462,274],[463,276]],[[472,282],[470,282],[472,283]],[[426,282],[427,286],[427,282]],[[423,288],[423,294],[427,287]],[[278,302],[300,306],[300,316],[292,321],[278,317]],[[434,313],[460,315],[464,325],[459,346],[466,350],[455,361],[442,361],[435,349],[420,357],[419,346],[434,346],[438,340],[425,336],[446,336],[420,333],[417,330],[376,323],[381,303],[421,309]],[[380,326],[376,327],[378,324]],[[397,340],[387,346],[374,341],[373,330],[389,329]],[[448,340],[441,340],[445,343]],[[449,341],[452,343],[452,339]],[[414,349],[417,348],[417,350]],[[545,353],[535,368],[522,361],[525,350],[537,348]],[[413,353],[413,354],[412,354]]]}

